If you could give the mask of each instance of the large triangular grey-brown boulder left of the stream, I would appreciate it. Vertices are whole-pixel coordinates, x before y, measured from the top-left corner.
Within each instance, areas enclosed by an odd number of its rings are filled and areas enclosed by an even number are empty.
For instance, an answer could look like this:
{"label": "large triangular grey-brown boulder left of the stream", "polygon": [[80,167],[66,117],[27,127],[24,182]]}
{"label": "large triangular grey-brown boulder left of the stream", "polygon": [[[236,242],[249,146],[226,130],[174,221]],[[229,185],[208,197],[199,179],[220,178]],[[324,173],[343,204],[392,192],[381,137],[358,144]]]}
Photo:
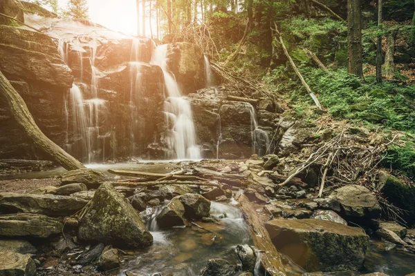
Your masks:
{"label": "large triangular grey-brown boulder left of the stream", "polygon": [[80,219],[78,237],[120,248],[140,248],[153,242],[137,211],[108,182],[95,191]]}

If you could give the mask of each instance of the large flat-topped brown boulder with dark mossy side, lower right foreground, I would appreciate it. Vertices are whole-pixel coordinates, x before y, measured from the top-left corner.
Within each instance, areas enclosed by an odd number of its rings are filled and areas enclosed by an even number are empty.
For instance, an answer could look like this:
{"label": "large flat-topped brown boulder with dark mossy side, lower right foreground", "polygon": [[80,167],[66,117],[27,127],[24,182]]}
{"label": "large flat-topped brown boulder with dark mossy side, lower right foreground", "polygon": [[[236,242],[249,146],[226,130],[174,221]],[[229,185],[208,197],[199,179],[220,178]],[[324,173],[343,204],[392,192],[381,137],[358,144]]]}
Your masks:
{"label": "large flat-topped brown boulder with dark mossy side, lower right foreground", "polygon": [[369,237],[360,228],[322,219],[273,219],[265,225],[280,253],[308,272],[359,270]]}

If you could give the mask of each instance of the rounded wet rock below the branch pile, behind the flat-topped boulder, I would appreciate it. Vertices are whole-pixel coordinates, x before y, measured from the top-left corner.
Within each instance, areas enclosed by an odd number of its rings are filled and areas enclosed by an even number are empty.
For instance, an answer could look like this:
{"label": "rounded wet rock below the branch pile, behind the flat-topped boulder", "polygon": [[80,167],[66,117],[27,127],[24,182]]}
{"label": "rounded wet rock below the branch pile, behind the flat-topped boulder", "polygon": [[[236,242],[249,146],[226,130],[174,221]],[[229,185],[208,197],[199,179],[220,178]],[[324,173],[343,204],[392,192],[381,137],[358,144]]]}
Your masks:
{"label": "rounded wet rock below the branch pile, behind the flat-topped boulder", "polygon": [[350,217],[380,217],[380,205],[376,195],[358,185],[347,185],[334,190],[329,196],[340,202],[342,213]]}

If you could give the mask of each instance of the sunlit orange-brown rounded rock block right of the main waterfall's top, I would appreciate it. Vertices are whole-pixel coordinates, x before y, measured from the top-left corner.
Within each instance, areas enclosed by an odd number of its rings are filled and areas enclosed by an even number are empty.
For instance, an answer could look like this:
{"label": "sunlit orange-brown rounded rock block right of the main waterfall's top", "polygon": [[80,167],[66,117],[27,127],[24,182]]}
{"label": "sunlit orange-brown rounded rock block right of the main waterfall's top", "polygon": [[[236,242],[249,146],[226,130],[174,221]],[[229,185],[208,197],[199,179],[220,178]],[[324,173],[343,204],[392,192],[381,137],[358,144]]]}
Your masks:
{"label": "sunlit orange-brown rounded rock block right of the main waterfall's top", "polygon": [[186,95],[205,87],[203,51],[199,46],[187,42],[171,43],[168,46],[167,65]]}

